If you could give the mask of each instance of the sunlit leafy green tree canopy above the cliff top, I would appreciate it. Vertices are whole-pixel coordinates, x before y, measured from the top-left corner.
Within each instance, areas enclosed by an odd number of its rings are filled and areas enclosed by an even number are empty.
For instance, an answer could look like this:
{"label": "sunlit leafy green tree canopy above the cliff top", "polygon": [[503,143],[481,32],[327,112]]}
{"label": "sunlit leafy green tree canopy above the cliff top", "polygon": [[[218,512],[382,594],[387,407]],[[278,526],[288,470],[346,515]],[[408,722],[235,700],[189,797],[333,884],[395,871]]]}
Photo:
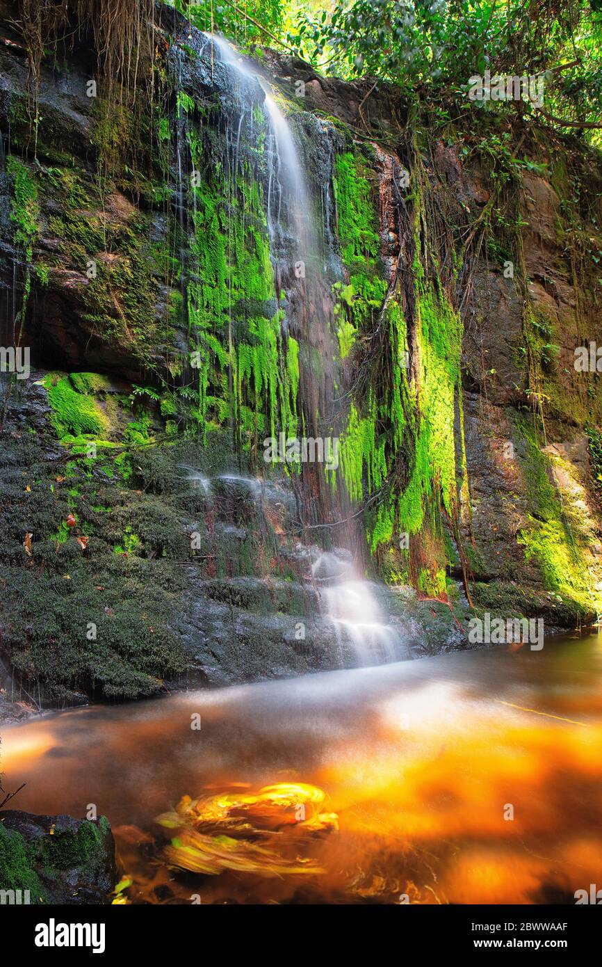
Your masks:
{"label": "sunlit leafy green tree canopy above the cliff top", "polygon": [[602,128],[602,0],[174,0],[203,30],[246,49],[294,52],[320,73],[397,83],[444,101],[486,71],[543,75],[545,107],[560,127]]}

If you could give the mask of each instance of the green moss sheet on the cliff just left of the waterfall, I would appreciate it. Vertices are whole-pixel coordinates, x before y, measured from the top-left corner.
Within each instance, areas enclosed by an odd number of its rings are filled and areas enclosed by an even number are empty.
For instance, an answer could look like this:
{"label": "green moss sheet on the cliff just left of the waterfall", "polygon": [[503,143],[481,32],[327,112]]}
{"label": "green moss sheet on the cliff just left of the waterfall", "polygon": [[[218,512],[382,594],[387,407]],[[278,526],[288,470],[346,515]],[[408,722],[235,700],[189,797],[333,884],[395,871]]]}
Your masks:
{"label": "green moss sheet on the cliff just left of the waterfall", "polygon": [[[188,143],[198,169],[202,147],[191,131]],[[268,429],[272,436],[295,433],[299,345],[282,332],[261,184],[249,170],[227,186],[214,171],[191,192],[186,302],[199,392],[193,415],[204,433],[231,420],[240,445]]]}

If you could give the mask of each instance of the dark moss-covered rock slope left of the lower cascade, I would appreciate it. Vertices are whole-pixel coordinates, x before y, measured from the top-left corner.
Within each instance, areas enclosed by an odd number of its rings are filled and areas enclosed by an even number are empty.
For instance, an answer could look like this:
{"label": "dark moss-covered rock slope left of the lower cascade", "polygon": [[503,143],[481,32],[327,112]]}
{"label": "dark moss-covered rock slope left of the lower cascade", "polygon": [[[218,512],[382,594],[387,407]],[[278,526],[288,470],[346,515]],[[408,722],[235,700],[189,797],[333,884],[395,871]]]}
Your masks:
{"label": "dark moss-covered rock slope left of the lower cascade", "polygon": [[[317,604],[286,554],[291,543],[277,536],[295,534],[286,480],[262,483],[250,468],[245,476],[225,431],[210,430],[205,446],[172,440],[161,432],[158,401],[130,400],[118,381],[36,376],[12,399],[14,434],[0,439],[0,628],[14,688],[31,693],[35,682],[44,706],[65,707],[156,694],[190,672],[206,682],[210,666],[212,684],[326,666],[326,646],[315,656],[296,651],[296,622]],[[111,440],[85,432],[57,440],[49,397],[59,383],[78,407],[83,400],[109,412]],[[148,427],[143,442],[127,434],[131,415]],[[213,631],[197,630],[189,616],[205,620],[217,602],[228,616],[237,608],[245,629],[238,635],[219,612],[220,672]],[[272,612],[280,617],[267,623],[267,655],[260,619]]]}

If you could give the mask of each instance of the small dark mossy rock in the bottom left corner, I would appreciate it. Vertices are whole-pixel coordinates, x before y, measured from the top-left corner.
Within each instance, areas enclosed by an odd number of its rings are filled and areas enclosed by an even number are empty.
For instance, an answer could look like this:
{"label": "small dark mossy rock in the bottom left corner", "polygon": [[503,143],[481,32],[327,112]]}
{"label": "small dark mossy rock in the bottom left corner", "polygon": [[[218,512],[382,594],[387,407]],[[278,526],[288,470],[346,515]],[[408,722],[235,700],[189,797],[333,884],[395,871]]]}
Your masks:
{"label": "small dark mossy rock in the bottom left corner", "polygon": [[104,816],[0,814],[0,890],[29,891],[32,904],[91,904],[110,903],[114,885],[115,844]]}

